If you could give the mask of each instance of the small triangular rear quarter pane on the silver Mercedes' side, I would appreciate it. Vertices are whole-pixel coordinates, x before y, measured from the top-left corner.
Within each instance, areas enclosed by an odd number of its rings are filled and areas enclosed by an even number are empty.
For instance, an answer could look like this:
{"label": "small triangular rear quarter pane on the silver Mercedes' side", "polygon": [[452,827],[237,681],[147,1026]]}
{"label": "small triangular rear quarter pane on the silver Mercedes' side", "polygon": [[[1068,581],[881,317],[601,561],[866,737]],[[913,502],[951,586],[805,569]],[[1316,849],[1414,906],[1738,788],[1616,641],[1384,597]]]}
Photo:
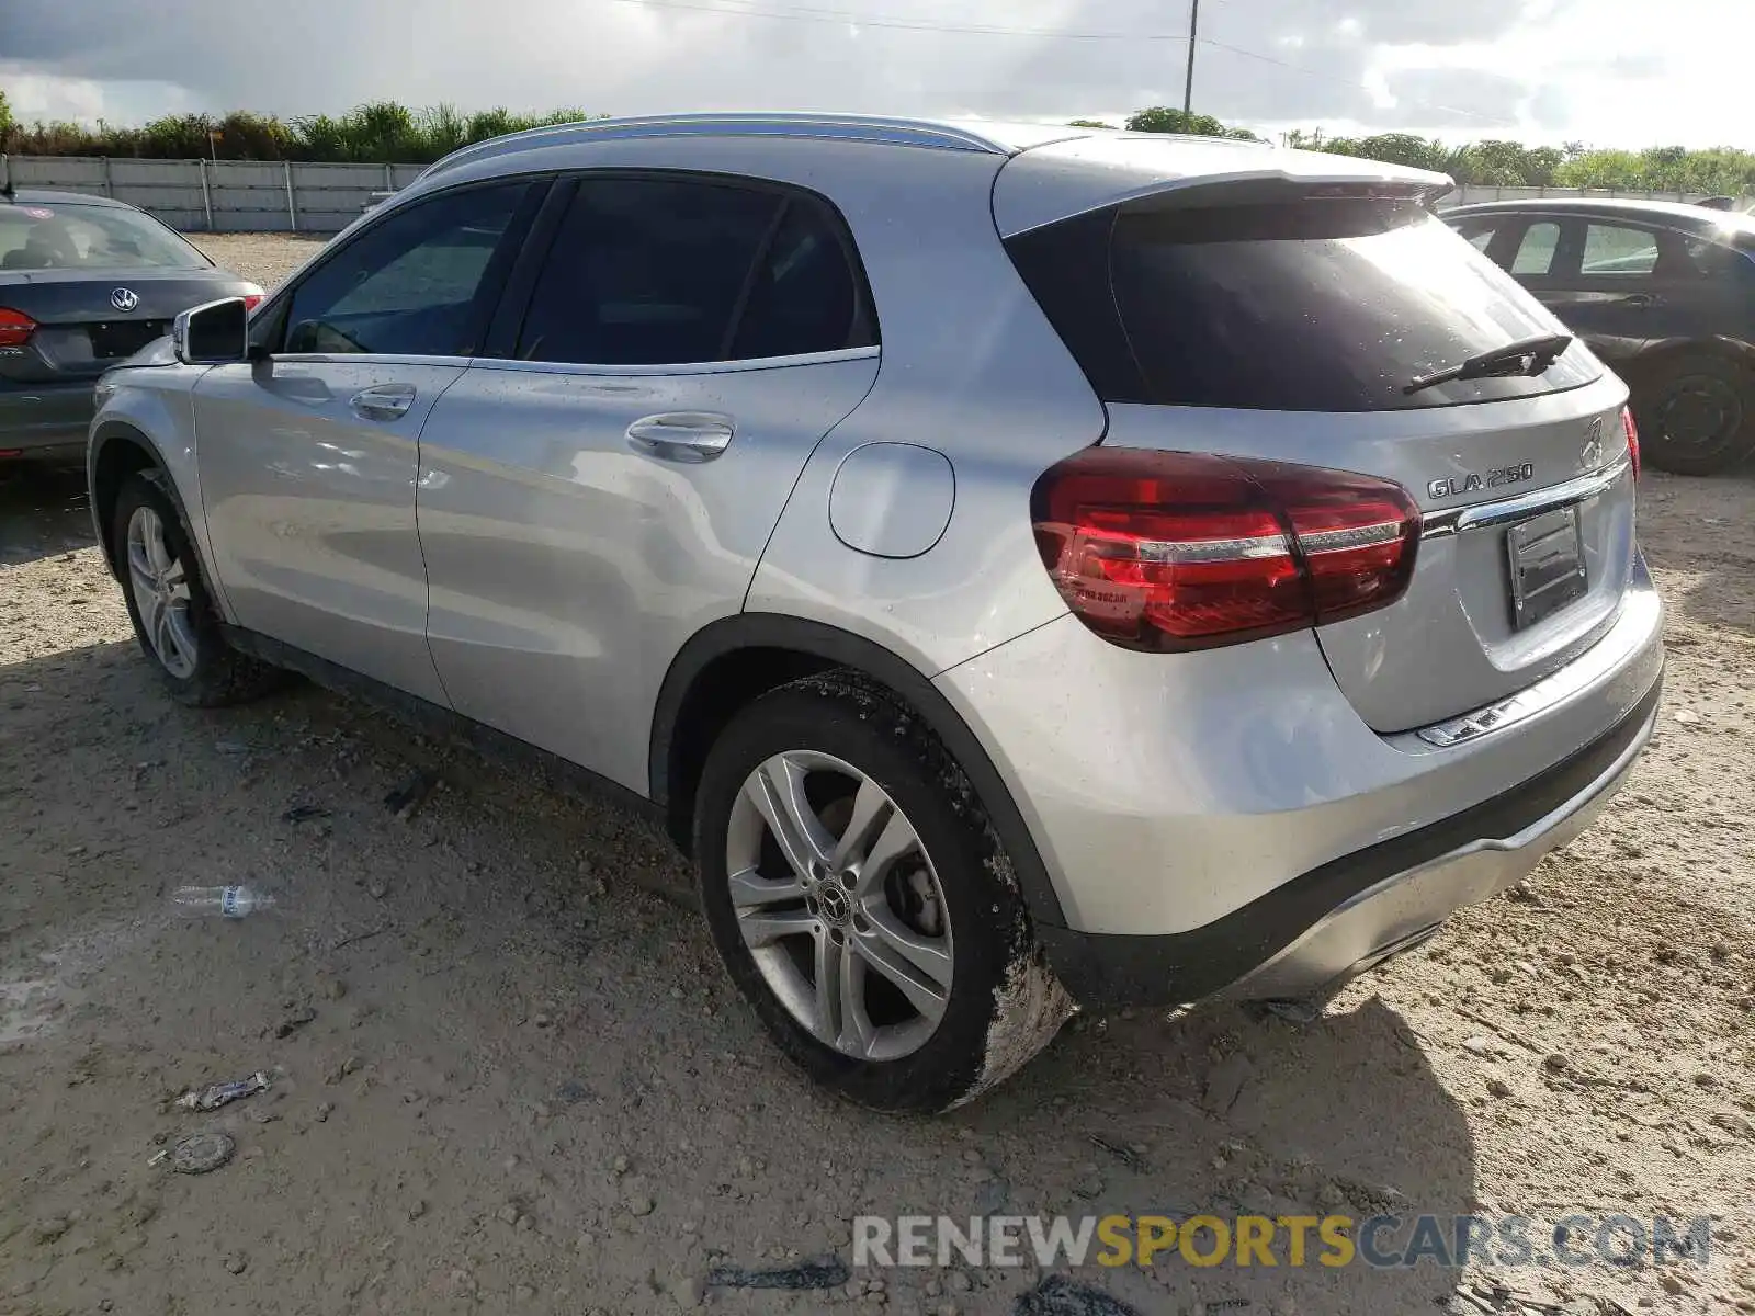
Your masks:
{"label": "small triangular rear quarter pane on the silver Mercedes' side", "polygon": [[802,356],[876,342],[867,295],[820,202],[786,202],[732,339],[732,360]]}

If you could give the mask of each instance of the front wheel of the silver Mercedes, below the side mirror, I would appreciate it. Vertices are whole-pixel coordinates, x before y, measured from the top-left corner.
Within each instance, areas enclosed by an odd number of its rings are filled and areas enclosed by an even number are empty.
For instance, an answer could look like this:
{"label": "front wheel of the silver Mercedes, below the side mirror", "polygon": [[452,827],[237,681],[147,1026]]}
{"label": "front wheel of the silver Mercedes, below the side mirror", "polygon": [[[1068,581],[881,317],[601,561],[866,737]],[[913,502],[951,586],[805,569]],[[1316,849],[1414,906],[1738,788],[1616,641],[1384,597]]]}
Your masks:
{"label": "front wheel of the silver Mercedes, below the side mirror", "polygon": [[286,684],[284,672],[225,642],[200,561],[161,472],[140,470],[123,483],[111,519],[111,544],[121,565],[133,635],[174,700],[212,709]]}

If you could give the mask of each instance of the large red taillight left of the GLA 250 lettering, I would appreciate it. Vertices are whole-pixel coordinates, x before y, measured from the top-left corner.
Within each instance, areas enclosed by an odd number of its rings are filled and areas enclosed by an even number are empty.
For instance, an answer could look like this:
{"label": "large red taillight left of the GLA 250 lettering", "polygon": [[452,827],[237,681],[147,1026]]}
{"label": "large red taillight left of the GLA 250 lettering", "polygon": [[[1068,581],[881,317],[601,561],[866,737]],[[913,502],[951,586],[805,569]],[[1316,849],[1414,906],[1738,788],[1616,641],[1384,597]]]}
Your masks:
{"label": "large red taillight left of the GLA 250 lettering", "polygon": [[1344,470],[1090,447],[1035,483],[1042,563],[1130,649],[1206,649],[1358,616],[1408,588],[1420,509]]}

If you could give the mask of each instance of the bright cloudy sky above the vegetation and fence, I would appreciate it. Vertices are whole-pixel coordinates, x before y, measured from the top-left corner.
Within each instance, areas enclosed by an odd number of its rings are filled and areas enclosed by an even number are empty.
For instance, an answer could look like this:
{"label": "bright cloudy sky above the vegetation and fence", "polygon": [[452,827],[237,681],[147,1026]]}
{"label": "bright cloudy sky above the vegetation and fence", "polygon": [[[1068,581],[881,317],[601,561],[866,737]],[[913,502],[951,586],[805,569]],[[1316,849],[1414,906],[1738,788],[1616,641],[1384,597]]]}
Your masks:
{"label": "bright cloudy sky above the vegetation and fence", "polygon": [[[0,0],[19,118],[363,100],[1118,118],[1188,0]],[[1269,132],[1755,146],[1748,0],[1202,0],[1195,109]]]}

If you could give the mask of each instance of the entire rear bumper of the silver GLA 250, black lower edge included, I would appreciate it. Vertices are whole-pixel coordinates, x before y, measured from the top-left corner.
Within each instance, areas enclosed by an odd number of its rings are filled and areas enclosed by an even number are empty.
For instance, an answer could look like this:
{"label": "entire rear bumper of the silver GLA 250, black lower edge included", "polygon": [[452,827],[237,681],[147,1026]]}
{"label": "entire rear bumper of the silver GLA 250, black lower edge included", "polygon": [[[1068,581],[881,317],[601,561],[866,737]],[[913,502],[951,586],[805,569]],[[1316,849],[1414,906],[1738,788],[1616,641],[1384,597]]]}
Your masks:
{"label": "entire rear bumper of the silver GLA 250, black lower edge included", "polygon": [[[1309,633],[1143,654],[1062,618],[942,672],[1035,842],[1085,1004],[1314,991],[1564,846],[1651,733],[1641,560],[1602,637],[1472,718],[1379,735]],[[1427,737],[1432,739],[1427,739]]]}

